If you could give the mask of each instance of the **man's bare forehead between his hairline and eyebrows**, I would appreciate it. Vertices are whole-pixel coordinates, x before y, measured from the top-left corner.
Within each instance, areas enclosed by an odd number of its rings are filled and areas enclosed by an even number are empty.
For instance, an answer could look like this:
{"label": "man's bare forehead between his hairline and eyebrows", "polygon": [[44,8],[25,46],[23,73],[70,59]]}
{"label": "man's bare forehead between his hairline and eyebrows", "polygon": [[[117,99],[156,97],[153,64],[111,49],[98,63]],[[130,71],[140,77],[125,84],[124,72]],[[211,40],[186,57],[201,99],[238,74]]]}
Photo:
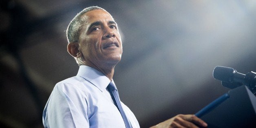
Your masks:
{"label": "man's bare forehead between his hairline and eyebrows", "polygon": [[85,20],[86,24],[90,24],[95,21],[114,21],[113,17],[107,11],[102,9],[88,11],[82,15],[82,18]]}

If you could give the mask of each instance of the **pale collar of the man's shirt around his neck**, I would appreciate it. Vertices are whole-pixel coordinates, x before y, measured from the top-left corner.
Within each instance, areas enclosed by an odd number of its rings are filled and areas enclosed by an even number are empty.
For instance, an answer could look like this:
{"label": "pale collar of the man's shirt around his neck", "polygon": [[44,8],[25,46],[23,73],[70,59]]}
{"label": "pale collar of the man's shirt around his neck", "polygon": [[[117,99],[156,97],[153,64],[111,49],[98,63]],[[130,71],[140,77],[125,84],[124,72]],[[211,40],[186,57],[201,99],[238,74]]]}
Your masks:
{"label": "pale collar of the man's shirt around his neck", "polygon": [[[110,80],[108,79],[108,77],[106,77],[106,75],[104,75],[97,69],[86,65],[79,66],[77,76],[83,77],[84,79],[88,80],[90,83],[99,88],[99,90],[101,90],[102,92],[103,90],[106,90],[108,84],[110,83]],[[113,79],[112,82],[114,82]]]}

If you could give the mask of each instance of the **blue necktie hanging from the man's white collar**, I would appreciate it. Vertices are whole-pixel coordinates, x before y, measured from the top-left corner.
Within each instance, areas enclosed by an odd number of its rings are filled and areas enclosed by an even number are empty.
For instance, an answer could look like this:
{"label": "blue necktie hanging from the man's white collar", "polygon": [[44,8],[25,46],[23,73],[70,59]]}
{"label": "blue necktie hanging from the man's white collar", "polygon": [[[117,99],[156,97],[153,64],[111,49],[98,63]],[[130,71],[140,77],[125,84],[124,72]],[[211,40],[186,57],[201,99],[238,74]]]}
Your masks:
{"label": "blue necktie hanging from the man's white collar", "polygon": [[118,95],[118,92],[117,92],[117,88],[115,87],[115,85],[112,82],[110,82],[108,84],[107,89],[108,89],[108,91],[109,91],[109,93],[110,93],[110,95],[111,95],[111,97],[112,97],[112,99],[113,99],[113,101],[115,103],[115,106],[117,106],[119,112],[121,113],[121,115],[122,115],[122,117],[124,119],[125,127],[126,128],[132,128],[130,126],[130,123],[129,123],[129,121],[128,121],[125,113],[124,113],[124,110],[123,110],[121,104],[120,104],[120,99],[119,99],[119,95]]}

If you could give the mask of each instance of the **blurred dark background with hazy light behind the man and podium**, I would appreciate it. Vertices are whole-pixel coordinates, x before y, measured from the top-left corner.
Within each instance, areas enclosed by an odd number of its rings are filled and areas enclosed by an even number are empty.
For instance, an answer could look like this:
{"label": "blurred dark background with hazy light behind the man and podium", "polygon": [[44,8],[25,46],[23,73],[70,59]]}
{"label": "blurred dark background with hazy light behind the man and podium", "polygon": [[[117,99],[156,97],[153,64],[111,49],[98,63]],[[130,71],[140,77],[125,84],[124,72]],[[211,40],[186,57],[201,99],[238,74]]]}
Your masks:
{"label": "blurred dark background with hazy light behind the man and podium", "polygon": [[114,80],[142,128],[227,92],[215,66],[256,71],[254,0],[2,0],[0,127],[43,127],[53,87],[79,68],[66,52],[66,27],[93,5],[119,25],[124,53]]}

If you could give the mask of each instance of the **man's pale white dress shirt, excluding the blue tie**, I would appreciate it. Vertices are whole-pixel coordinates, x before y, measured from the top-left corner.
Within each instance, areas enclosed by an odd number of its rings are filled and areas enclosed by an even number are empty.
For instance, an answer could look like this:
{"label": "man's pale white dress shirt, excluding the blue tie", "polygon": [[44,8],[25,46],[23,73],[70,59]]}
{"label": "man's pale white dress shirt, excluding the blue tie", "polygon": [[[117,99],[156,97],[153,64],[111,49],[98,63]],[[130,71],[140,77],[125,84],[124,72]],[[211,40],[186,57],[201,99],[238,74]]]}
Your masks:
{"label": "man's pale white dress shirt, excluding the blue tie", "polygon": [[[113,80],[112,80],[113,82]],[[43,112],[46,128],[125,128],[124,120],[106,89],[110,79],[89,66],[80,66],[75,77],[55,85]],[[139,123],[121,102],[133,128]]]}

